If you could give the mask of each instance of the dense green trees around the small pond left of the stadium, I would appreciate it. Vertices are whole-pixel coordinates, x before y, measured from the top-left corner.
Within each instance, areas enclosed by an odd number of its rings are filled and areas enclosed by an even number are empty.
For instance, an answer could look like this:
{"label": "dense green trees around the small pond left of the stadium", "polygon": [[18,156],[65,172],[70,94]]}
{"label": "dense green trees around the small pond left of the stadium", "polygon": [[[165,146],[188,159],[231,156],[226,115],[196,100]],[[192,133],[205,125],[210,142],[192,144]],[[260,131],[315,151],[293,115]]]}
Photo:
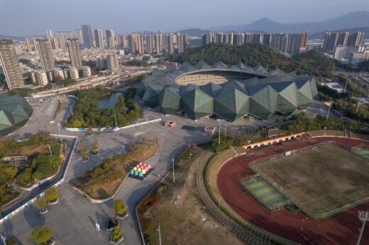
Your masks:
{"label": "dense green trees around the small pond left of the stadium", "polygon": [[143,110],[133,101],[131,92],[119,96],[114,108],[98,108],[99,98],[109,96],[111,91],[104,88],[87,89],[77,92],[78,103],[66,127],[123,127],[141,118]]}

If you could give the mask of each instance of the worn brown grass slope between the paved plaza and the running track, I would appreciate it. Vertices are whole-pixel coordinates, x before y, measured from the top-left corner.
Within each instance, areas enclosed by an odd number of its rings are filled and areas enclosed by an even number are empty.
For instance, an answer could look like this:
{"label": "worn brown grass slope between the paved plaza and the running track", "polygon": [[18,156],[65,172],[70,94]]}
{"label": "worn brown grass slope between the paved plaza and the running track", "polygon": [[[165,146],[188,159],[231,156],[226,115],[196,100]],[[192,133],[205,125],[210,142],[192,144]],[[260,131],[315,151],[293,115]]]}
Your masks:
{"label": "worn brown grass slope between the paved plaza and the running track", "polygon": [[[197,166],[214,155],[210,147],[187,149],[172,174],[149,193],[138,205],[138,216],[146,244],[158,244],[160,224],[163,244],[242,244],[206,210],[196,185]],[[206,220],[202,220],[204,217]]]}

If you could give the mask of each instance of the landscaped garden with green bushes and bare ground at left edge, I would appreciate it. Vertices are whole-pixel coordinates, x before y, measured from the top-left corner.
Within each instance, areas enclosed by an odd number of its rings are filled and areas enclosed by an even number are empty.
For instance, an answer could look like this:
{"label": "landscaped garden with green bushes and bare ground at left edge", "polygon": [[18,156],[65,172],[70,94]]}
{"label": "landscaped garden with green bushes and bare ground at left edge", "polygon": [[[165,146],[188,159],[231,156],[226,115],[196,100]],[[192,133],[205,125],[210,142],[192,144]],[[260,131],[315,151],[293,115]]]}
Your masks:
{"label": "landscaped garden with green bushes and bare ground at left edge", "polygon": [[[66,146],[66,144],[64,144]],[[0,141],[0,207],[20,194],[14,183],[28,188],[37,181],[53,176],[62,164],[61,144],[48,132],[31,135],[26,141]]]}

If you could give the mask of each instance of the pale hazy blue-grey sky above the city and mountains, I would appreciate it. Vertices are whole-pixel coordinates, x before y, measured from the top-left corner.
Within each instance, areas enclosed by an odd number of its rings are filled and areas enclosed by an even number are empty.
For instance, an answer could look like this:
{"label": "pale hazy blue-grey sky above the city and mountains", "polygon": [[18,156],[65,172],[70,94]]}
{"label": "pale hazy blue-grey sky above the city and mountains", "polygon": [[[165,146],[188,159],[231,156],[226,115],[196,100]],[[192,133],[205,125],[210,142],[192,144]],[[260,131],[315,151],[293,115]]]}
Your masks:
{"label": "pale hazy blue-grey sky above the city and mountains", "polygon": [[115,33],[248,24],[321,21],[369,11],[369,0],[0,0],[0,34],[45,35],[88,23]]}

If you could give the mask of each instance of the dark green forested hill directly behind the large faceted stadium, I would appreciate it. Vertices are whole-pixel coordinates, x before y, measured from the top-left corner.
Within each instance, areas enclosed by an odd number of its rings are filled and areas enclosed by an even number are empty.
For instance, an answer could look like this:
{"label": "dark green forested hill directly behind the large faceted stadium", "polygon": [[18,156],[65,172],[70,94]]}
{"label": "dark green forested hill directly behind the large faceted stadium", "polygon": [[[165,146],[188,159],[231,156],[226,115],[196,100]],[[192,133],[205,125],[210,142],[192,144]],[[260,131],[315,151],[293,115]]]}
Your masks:
{"label": "dark green forested hill directly behind the large faceted stadium", "polygon": [[333,76],[334,62],[316,51],[304,52],[294,57],[281,55],[270,47],[251,43],[243,46],[210,43],[204,47],[194,47],[182,54],[170,57],[173,61],[195,65],[203,60],[207,64],[223,62],[227,65],[243,62],[249,67],[261,64],[268,69],[280,68],[284,72],[297,72],[309,74],[316,78]]}

